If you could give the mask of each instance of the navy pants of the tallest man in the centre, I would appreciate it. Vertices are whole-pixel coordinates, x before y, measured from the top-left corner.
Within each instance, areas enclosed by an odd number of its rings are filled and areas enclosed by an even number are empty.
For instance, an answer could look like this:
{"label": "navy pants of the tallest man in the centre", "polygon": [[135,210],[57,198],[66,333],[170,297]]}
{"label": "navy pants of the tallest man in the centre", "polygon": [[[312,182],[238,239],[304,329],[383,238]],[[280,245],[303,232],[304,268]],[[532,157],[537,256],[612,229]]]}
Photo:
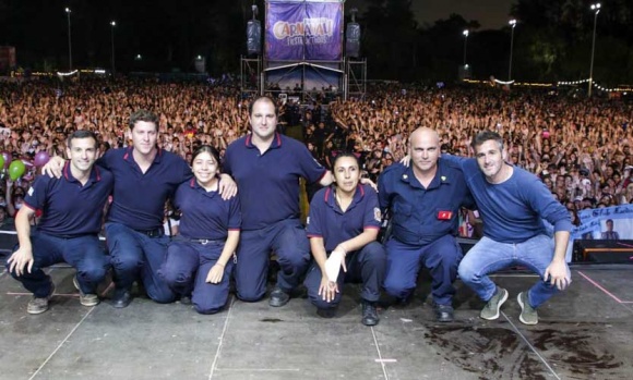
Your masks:
{"label": "navy pants of the tallest man in the centre", "polygon": [[277,255],[282,267],[277,273],[277,286],[290,292],[299,285],[310,262],[310,243],[299,219],[240,232],[235,271],[238,298],[255,302],[264,296],[272,252]]}

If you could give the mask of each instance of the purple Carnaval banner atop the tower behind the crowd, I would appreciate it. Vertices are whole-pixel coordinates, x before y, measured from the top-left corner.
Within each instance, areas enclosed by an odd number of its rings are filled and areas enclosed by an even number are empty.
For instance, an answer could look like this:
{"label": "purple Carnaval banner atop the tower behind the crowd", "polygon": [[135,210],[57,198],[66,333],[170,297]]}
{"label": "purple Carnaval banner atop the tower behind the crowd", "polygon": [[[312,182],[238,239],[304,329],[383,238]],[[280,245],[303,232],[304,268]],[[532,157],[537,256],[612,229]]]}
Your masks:
{"label": "purple Carnaval banner atop the tower behind the crowd", "polygon": [[341,2],[267,2],[266,59],[341,60],[342,26]]}

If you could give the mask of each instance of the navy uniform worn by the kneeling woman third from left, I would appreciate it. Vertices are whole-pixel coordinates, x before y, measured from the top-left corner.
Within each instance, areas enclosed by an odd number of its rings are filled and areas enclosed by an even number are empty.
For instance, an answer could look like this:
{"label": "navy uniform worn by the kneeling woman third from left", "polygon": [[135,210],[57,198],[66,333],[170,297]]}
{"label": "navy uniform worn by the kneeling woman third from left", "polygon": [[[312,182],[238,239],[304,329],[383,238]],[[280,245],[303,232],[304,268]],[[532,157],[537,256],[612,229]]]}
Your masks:
{"label": "navy uniform worn by the kneeling woman third from left", "polygon": [[217,312],[228,298],[234,260],[226,263],[220,283],[207,283],[206,277],[222,255],[228,231],[240,230],[239,198],[224,200],[191,179],[176,191],[174,206],[182,212],[180,234],[169,244],[159,273],[176,293],[191,295],[198,312]]}

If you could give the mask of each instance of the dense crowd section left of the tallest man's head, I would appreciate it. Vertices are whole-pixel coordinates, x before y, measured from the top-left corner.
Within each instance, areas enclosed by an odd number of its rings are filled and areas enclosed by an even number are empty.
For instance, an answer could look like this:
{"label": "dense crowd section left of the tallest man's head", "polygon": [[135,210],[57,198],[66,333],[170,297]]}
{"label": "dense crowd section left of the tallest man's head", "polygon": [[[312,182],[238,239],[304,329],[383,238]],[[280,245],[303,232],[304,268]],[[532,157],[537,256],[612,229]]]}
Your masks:
{"label": "dense crowd section left of the tallest man's head", "polygon": [[248,128],[247,106],[231,86],[94,79],[0,84],[0,150],[10,158],[5,169],[16,159],[27,168],[15,184],[4,176],[3,207],[9,217],[15,214],[37,175],[35,155],[45,150],[50,157],[65,157],[65,138],[72,131],[94,132],[104,155],[131,146],[130,113],[152,109],[159,117],[158,147],[190,160],[200,145],[217,147],[223,155],[228,143],[242,136]]}

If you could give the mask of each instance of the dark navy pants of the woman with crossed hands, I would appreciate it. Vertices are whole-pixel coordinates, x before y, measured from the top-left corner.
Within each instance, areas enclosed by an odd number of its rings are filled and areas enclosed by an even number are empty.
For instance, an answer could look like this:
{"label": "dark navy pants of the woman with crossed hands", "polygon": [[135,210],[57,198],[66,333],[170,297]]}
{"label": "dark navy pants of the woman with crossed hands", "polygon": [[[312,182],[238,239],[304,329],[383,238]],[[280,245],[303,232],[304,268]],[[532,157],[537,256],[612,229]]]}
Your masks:
{"label": "dark navy pants of the woman with crossed hands", "polygon": [[343,294],[343,284],[345,282],[360,282],[360,297],[365,301],[377,302],[380,297],[380,289],[384,281],[384,273],[386,269],[386,255],[382,244],[372,242],[362,247],[360,250],[350,252],[345,255],[345,266],[347,272],[341,269],[336,283],[338,284],[338,293],[334,295],[332,302],[326,302],[319,295],[319,286],[321,285],[321,268],[316,261],[308,270],[308,275],[303,284],[308,289],[308,297],[312,305],[320,309],[335,308],[341,303]]}

